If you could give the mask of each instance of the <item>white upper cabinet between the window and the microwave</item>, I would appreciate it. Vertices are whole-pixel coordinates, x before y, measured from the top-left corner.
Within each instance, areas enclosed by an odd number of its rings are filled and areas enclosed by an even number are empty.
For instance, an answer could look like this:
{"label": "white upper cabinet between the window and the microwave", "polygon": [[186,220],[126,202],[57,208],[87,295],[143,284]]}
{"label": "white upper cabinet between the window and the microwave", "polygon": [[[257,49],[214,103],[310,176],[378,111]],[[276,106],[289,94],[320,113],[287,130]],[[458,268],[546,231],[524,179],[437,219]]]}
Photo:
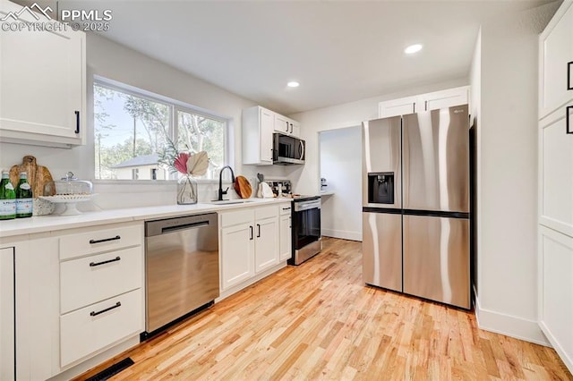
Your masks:
{"label": "white upper cabinet between the window and the microwave", "polygon": [[275,113],[261,106],[243,110],[243,164],[272,165]]}

